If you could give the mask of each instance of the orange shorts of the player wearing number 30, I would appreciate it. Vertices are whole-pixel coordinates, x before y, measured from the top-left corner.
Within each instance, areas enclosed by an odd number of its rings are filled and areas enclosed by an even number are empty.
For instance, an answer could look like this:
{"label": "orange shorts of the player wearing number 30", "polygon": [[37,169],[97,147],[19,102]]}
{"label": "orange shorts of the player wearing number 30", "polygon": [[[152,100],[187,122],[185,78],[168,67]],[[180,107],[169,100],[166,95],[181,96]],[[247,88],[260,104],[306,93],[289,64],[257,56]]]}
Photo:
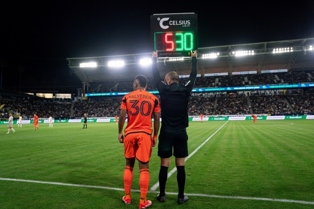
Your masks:
{"label": "orange shorts of the player wearing number 30", "polygon": [[152,155],[152,136],[145,133],[130,133],[124,139],[124,156],[147,163]]}

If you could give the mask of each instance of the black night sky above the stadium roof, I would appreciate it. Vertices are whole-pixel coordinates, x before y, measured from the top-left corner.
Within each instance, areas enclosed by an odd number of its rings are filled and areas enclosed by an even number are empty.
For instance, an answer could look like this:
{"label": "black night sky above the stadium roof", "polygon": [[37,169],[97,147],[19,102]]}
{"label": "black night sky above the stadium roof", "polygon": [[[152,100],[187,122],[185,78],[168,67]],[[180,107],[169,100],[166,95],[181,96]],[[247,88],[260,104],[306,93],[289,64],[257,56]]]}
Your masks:
{"label": "black night sky above the stadium roof", "polygon": [[81,85],[66,58],[152,51],[153,14],[197,13],[199,47],[314,37],[314,0],[12,0],[0,7],[3,88],[19,86],[20,65],[21,86]]}

